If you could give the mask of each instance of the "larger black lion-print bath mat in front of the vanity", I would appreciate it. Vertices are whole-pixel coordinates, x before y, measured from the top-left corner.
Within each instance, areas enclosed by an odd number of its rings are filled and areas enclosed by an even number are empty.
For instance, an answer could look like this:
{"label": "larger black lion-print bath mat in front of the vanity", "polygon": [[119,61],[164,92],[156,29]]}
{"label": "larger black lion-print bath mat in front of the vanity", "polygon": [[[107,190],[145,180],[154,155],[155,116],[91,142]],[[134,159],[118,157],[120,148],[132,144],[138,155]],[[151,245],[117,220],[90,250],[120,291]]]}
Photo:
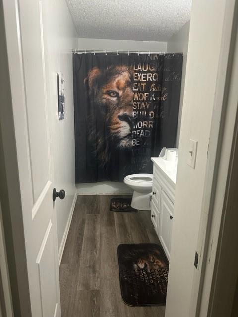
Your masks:
{"label": "larger black lion-print bath mat in front of the vanity", "polygon": [[169,263],[159,245],[120,244],[118,264],[121,296],[125,304],[165,305]]}

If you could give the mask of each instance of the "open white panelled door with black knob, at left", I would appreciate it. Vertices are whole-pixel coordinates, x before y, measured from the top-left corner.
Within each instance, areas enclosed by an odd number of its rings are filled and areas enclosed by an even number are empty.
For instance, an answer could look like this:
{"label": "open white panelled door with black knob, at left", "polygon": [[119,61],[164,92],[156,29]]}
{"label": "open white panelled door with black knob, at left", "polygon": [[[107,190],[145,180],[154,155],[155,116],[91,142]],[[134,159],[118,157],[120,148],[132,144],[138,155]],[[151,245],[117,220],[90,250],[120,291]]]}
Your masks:
{"label": "open white panelled door with black knob, at left", "polygon": [[3,5],[32,316],[59,317],[41,1],[3,0]]}

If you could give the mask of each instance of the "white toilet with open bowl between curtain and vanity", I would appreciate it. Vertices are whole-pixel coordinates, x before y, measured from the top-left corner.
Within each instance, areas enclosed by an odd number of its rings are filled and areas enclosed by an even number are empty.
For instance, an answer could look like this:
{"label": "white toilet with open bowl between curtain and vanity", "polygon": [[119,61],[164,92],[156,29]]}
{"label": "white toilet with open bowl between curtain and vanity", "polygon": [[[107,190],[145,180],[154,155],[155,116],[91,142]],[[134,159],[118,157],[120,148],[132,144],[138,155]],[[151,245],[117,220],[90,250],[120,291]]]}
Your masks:
{"label": "white toilet with open bowl between curtain and vanity", "polygon": [[124,183],[133,189],[131,207],[139,210],[151,210],[152,174],[132,174],[124,178]]}

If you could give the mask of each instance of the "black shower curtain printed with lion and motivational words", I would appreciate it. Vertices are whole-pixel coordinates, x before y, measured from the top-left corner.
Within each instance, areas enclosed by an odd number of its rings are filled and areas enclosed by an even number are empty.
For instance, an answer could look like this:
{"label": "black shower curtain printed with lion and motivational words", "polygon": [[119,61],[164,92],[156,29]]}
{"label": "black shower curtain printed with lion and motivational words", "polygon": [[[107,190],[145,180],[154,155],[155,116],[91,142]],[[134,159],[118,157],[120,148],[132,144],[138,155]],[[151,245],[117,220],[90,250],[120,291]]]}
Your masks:
{"label": "black shower curtain printed with lion and motivational words", "polygon": [[75,183],[151,173],[175,147],[182,54],[73,55]]}

